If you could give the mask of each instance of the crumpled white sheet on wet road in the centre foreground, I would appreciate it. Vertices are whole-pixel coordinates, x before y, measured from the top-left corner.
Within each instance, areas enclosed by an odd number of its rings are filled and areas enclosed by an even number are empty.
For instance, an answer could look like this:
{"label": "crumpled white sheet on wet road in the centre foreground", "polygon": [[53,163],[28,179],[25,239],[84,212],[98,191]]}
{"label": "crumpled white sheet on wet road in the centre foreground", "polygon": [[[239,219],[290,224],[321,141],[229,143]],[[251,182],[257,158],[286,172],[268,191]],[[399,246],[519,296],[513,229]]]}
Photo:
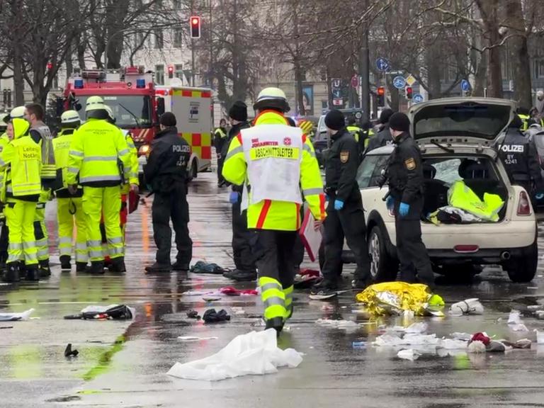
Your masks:
{"label": "crumpled white sheet on wet road in the centre foreground", "polygon": [[300,353],[294,348],[278,348],[276,330],[268,329],[236,336],[213,356],[176,363],[166,374],[186,380],[219,381],[242,375],[277,373],[278,367],[295,368],[300,363]]}

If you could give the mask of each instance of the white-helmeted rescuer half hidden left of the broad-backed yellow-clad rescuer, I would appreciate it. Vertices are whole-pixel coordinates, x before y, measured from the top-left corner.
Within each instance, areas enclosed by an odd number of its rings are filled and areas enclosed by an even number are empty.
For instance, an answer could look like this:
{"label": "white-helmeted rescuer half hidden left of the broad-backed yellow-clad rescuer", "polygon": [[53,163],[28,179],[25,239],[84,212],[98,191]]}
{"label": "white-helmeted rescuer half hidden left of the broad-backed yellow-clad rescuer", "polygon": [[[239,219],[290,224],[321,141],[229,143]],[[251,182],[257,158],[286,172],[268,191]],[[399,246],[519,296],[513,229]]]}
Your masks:
{"label": "white-helmeted rescuer half hidden left of the broad-backed yellow-clad rescuer", "polygon": [[67,188],[67,169],[70,145],[74,132],[81,125],[77,111],[66,111],[60,116],[60,132],[53,140],[55,148],[55,164],[57,176],[62,180],[62,188],[55,191],[57,196],[57,222],[59,226],[60,266],[64,270],[72,268],[72,239],[74,237],[74,222],[76,224],[76,271],[85,272],[89,255],[87,254],[85,215],[81,207],[83,188],[79,186],[72,194]]}

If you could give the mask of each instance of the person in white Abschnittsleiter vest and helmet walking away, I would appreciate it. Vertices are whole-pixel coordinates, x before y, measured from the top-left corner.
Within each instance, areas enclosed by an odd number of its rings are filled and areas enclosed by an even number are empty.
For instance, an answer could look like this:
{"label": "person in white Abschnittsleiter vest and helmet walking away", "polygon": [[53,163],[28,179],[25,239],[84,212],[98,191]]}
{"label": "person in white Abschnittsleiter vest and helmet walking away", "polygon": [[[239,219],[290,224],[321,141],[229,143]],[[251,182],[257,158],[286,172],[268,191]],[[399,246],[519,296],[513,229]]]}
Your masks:
{"label": "person in white Abschnittsleiter vest and helmet walking away", "polygon": [[[266,328],[278,335],[293,314],[293,246],[300,229],[304,196],[316,222],[325,217],[319,165],[310,138],[288,125],[289,105],[283,91],[266,88],[254,105],[254,127],[232,139],[223,176],[237,186],[251,186],[247,227],[254,230],[254,253],[264,303]],[[302,191],[301,191],[302,190]]]}

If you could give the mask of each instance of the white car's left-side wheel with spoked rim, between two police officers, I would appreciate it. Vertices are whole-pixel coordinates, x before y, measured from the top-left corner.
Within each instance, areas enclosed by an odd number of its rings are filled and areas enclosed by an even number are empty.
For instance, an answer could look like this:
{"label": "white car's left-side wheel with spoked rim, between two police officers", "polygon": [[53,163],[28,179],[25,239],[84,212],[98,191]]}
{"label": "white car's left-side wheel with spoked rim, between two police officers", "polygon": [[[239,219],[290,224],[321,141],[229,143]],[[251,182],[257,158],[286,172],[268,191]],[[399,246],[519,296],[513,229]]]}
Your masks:
{"label": "white car's left-side wheel with spoked rim, between two police officers", "polygon": [[370,274],[375,282],[390,282],[397,278],[399,262],[387,251],[388,239],[378,225],[368,235],[368,253],[370,255]]}

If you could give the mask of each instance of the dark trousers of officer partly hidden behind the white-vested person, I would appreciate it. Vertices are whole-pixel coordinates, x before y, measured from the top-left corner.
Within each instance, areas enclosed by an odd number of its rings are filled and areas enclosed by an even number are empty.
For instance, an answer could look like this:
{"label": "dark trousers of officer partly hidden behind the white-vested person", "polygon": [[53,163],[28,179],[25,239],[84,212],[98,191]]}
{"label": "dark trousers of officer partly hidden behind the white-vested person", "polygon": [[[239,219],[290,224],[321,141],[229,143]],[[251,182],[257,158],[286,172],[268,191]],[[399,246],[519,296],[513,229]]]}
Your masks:
{"label": "dark trousers of officer partly hidden behind the white-vested person", "polygon": [[242,198],[232,205],[232,252],[234,266],[239,271],[254,272],[255,256],[251,251],[251,237],[253,233],[247,229],[247,211],[240,212]]}

